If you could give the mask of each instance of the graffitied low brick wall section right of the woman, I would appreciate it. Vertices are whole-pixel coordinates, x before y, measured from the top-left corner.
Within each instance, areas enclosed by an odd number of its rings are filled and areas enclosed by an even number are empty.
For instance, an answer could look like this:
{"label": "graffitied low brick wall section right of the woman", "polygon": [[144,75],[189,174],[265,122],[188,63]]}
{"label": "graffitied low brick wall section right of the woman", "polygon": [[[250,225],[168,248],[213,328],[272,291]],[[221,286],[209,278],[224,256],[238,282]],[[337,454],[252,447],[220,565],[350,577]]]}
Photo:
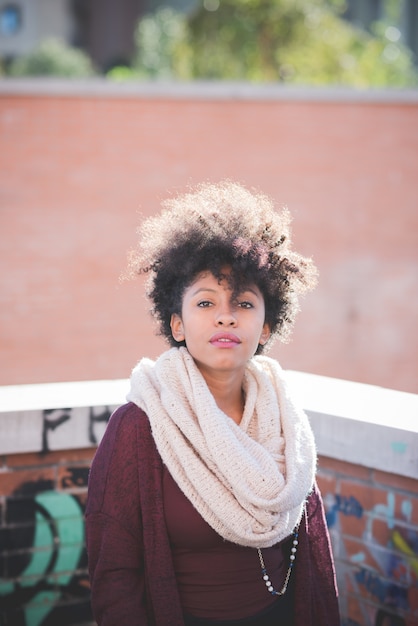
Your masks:
{"label": "graffitied low brick wall section right of the woman", "polygon": [[[418,624],[416,481],[322,457],[318,483],[327,509],[343,623]],[[379,621],[384,615],[387,621]]]}

